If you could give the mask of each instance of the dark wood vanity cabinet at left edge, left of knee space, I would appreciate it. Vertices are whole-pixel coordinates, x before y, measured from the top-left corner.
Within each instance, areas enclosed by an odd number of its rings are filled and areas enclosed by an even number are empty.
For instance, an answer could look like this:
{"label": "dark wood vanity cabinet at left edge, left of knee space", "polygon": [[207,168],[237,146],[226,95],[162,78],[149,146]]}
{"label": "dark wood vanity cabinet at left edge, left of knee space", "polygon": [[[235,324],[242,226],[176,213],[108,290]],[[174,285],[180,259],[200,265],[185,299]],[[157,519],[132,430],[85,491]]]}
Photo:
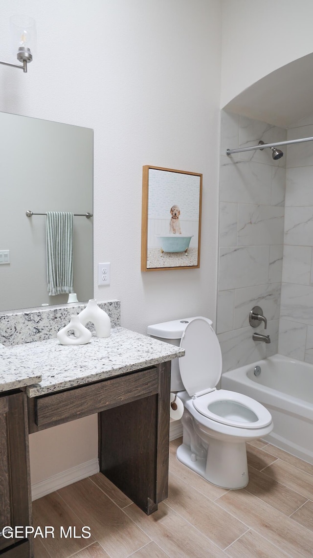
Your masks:
{"label": "dark wood vanity cabinet at left edge, left of knee space", "polygon": [[[0,396],[0,555],[31,556],[27,538],[6,538],[3,527],[31,525],[26,395],[21,389]],[[6,531],[8,536],[8,530]]]}

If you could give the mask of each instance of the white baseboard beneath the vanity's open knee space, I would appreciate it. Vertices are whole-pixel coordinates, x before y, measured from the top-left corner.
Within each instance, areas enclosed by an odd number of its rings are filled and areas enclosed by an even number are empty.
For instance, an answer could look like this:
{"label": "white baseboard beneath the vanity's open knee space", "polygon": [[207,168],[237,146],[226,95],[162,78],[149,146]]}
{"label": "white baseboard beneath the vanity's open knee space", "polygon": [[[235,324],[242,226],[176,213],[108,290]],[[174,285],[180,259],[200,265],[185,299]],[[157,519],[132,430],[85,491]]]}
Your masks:
{"label": "white baseboard beneath the vanity's open knee space", "polygon": [[68,484],[76,483],[78,480],[85,479],[86,477],[91,477],[95,473],[99,473],[99,460],[92,459],[86,461],[86,463],[81,463],[72,469],[62,471],[49,479],[41,480],[41,482],[32,484],[31,494],[32,501],[46,496],[59,488],[68,486]]}

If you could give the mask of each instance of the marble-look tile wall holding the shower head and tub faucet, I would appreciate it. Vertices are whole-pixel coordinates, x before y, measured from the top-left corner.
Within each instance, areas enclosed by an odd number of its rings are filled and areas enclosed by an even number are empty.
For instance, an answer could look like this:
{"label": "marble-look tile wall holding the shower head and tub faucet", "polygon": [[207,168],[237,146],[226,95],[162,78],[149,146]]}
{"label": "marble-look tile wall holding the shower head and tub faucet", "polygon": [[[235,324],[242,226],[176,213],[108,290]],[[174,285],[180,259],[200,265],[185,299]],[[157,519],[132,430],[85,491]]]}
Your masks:
{"label": "marble-look tile wall holding the shower head and tub faucet", "polygon": [[[216,333],[223,372],[278,352],[286,181],[286,157],[274,161],[269,149],[225,151],[286,136],[283,128],[222,111]],[[249,325],[255,305],[268,320],[266,331]],[[254,331],[269,334],[271,344],[253,341]]]}

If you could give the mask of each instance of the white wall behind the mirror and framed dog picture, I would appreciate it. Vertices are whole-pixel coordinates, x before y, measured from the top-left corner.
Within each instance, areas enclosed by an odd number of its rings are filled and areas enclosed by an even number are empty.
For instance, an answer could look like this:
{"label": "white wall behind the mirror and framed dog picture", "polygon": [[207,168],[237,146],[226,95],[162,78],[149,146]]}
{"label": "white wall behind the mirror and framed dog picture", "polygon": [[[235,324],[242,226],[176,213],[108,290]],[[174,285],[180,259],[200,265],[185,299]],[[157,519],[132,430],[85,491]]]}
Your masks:
{"label": "white wall behind the mirror and framed dog picture", "polygon": [[[27,74],[0,66],[0,110],[94,129],[94,267],[111,262],[111,285],[95,285],[95,297],[121,300],[122,325],[142,333],[182,315],[215,319],[219,0],[2,0],[2,60],[15,62],[9,16],[25,12],[37,54]],[[140,272],[143,165],[203,173],[199,270]],[[65,430],[41,459],[42,470],[54,462],[50,474],[68,466]],[[76,432],[78,464],[89,431]]]}

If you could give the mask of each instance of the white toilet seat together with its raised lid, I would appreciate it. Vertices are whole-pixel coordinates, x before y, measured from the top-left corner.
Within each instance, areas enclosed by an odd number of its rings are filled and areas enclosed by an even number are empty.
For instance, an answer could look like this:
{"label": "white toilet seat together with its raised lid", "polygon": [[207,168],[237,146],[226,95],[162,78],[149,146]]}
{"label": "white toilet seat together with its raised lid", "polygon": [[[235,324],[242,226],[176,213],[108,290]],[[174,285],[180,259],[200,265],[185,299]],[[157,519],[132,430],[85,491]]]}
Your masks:
{"label": "white toilet seat together with its raised lid", "polygon": [[194,318],[182,335],[179,359],[182,383],[196,411],[209,420],[239,429],[257,430],[268,426],[272,416],[258,401],[242,393],[216,389],[221,377],[221,350],[212,322]]}

